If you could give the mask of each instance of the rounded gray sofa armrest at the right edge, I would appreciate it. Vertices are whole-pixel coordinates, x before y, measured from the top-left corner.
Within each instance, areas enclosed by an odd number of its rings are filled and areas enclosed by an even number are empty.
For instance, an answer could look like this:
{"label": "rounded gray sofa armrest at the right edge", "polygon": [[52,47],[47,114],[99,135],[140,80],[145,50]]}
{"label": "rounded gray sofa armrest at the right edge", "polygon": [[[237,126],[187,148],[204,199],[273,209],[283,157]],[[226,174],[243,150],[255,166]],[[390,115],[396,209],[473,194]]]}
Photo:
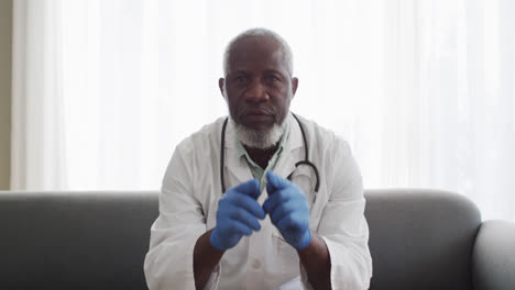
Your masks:
{"label": "rounded gray sofa armrest at the right edge", "polygon": [[515,223],[483,222],[472,253],[472,280],[474,290],[514,289]]}

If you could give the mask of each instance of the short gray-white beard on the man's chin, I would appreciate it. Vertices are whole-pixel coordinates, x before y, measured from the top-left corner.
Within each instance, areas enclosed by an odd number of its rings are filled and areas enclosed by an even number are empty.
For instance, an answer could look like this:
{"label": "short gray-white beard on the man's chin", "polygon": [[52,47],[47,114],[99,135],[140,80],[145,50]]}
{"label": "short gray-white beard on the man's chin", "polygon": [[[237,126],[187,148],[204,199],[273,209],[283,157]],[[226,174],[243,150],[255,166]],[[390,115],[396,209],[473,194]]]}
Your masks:
{"label": "short gray-white beard on the man's chin", "polygon": [[235,130],[237,138],[243,143],[243,145],[259,149],[269,149],[277,144],[284,134],[286,120],[287,118],[284,119],[281,125],[274,124],[269,131],[255,131],[250,130],[242,124],[235,123],[234,120],[230,118],[230,121]]}

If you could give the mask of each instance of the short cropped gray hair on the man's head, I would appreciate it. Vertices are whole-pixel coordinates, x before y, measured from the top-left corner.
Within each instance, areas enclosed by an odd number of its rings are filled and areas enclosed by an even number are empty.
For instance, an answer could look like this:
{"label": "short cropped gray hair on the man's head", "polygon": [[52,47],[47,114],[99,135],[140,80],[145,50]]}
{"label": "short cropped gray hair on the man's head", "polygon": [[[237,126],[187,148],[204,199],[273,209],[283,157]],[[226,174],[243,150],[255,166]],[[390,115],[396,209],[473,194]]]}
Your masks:
{"label": "short cropped gray hair on the man's head", "polygon": [[[282,54],[282,59],[286,66],[289,77],[293,76],[293,54],[289,45],[277,33],[266,29],[251,29],[238,34],[232,38],[223,53],[223,74],[227,76],[230,71],[231,55],[234,47],[242,43],[249,44],[252,42],[273,42],[278,46],[278,52]],[[244,45],[244,44],[243,44]]]}

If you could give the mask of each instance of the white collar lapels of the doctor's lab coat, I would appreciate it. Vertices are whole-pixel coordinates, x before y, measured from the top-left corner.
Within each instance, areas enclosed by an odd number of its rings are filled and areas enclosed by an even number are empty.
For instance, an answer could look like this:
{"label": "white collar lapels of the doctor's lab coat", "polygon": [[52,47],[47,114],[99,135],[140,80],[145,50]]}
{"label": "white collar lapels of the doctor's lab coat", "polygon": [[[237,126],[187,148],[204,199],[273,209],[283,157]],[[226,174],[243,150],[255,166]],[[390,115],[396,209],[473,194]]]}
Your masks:
{"label": "white collar lapels of the doctor's lab coat", "polygon": [[[289,123],[289,136],[284,150],[281,153],[274,172],[286,178],[295,170],[295,163],[300,160],[297,152],[303,147],[303,135],[297,121],[289,112],[286,122]],[[240,158],[235,147],[235,130],[231,122],[228,122],[226,130],[226,168],[234,175],[238,183],[252,179],[252,172],[243,158]],[[298,160],[297,160],[298,159]],[[228,182],[228,181],[226,181]],[[226,185],[230,188],[235,185]]]}

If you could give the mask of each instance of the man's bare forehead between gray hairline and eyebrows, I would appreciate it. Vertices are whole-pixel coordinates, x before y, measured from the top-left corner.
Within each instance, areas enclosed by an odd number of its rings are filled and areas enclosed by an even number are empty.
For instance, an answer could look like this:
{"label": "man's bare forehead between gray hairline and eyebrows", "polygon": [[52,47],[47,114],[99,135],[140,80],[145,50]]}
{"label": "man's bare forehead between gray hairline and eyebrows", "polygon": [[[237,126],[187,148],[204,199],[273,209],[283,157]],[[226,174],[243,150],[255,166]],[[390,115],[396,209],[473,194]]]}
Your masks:
{"label": "man's bare forehead between gray hairline and eyebrows", "polygon": [[273,69],[287,75],[283,46],[266,36],[248,36],[235,42],[228,59],[228,74]]}

